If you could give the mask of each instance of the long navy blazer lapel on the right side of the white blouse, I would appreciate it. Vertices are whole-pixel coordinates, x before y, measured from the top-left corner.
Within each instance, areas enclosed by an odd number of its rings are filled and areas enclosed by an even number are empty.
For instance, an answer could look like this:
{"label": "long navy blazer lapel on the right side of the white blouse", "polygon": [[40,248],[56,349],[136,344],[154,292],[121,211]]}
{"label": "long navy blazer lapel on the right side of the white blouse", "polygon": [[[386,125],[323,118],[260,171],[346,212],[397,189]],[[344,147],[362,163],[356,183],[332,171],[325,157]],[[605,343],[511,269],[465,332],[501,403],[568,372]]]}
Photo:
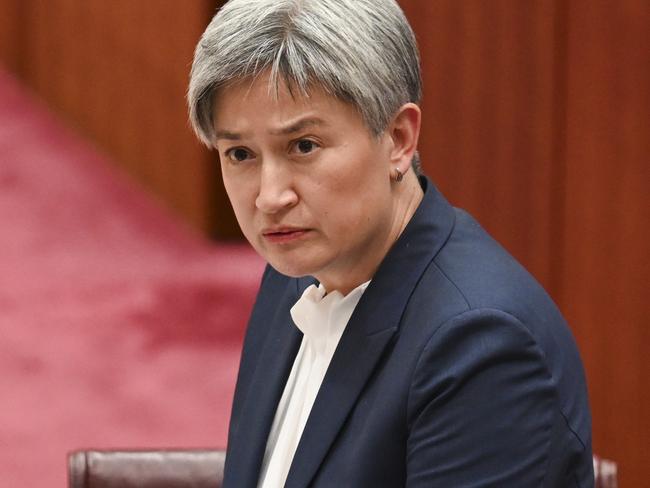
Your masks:
{"label": "long navy blazer lapel on the right side of the white blouse", "polygon": [[424,180],[425,196],[361,297],[334,353],[285,484],[309,485],[391,344],[425,268],[449,236],[451,206]]}

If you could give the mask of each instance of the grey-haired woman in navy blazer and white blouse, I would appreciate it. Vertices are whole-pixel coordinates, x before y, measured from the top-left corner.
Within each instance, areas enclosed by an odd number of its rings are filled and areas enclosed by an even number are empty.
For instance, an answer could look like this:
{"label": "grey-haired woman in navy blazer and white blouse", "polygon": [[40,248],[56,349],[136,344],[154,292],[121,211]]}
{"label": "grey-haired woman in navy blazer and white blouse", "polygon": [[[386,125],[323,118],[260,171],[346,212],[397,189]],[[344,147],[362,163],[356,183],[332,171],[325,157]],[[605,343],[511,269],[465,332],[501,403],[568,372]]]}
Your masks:
{"label": "grey-haired woman in navy blazer and white blouse", "polygon": [[269,263],[225,486],[591,486],[584,374],[541,287],[426,177],[393,0],[231,0],[188,92]]}

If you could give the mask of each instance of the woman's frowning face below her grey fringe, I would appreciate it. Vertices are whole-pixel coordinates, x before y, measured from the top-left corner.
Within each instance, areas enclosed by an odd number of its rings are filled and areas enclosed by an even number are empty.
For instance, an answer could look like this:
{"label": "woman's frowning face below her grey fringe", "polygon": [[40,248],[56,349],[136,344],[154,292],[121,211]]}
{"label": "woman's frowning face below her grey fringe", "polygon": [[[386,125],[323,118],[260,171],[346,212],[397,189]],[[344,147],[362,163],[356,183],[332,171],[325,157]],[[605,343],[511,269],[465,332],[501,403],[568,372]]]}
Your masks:
{"label": "woman's frowning face below her grey fringe", "polygon": [[390,137],[322,90],[276,97],[268,77],[221,90],[214,113],[226,191],[256,251],[329,291],[370,279],[394,227]]}

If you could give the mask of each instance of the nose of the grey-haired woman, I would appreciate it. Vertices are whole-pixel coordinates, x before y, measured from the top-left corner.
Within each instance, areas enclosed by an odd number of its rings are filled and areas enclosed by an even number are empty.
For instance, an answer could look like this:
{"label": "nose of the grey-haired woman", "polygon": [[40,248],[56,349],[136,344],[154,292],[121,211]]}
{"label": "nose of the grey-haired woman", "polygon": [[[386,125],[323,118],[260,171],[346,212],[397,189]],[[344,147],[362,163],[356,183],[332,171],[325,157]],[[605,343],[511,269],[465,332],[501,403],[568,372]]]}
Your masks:
{"label": "nose of the grey-haired woman", "polygon": [[260,186],[255,206],[264,213],[274,214],[298,203],[289,168],[275,162],[261,165]]}

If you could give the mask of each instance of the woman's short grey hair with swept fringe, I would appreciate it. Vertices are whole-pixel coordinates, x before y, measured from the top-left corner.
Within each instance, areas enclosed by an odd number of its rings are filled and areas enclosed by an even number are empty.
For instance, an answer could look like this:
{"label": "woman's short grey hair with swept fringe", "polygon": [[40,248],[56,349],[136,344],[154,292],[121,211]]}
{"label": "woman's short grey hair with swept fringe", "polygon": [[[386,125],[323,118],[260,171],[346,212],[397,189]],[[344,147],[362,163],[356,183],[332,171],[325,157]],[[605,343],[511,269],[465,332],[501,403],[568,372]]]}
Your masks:
{"label": "woman's short grey hair with swept fringe", "polygon": [[204,144],[214,145],[218,90],[269,70],[276,93],[280,82],[305,96],[318,86],[356,107],[376,136],[422,98],[415,35],[395,0],[230,0],[203,33],[190,75],[190,123]]}

